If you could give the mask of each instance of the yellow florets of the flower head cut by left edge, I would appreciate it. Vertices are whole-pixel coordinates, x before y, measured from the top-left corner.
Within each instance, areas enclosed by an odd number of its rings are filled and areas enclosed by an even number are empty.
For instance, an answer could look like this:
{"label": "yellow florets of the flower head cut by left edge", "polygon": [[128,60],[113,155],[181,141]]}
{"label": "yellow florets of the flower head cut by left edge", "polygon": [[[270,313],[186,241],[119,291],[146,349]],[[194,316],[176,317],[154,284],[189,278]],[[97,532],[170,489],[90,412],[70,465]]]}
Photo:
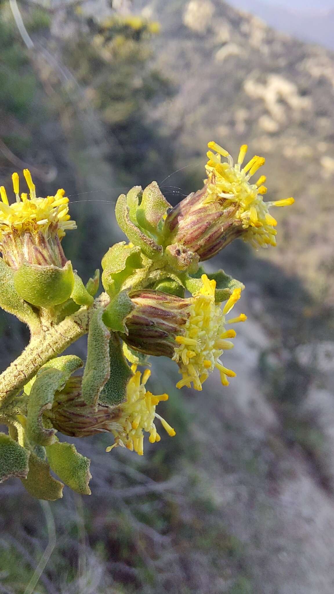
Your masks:
{"label": "yellow florets of the flower head cut by left edge", "polygon": [[27,194],[19,191],[19,178],[17,173],[12,174],[12,183],[16,201],[10,204],[4,186],[0,187],[0,236],[18,232],[37,232],[47,230],[53,225],[59,238],[65,235],[68,229],[75,229],[75,221],[71,220],[68,214],[68,198],[65,197],[64,189],[58,189],[54,196],[37,198],[36,188],[31,179],[29,169],[24,169],[30,198]]}

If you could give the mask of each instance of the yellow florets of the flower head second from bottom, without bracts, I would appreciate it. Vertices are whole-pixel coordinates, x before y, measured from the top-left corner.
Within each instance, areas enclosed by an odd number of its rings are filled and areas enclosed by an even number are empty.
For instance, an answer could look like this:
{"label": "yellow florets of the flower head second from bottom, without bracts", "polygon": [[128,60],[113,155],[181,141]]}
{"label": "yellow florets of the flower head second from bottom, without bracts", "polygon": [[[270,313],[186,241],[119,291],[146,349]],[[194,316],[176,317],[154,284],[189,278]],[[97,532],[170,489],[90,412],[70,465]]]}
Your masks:
{"label": "yellow florets of the flower head second from bottom, without bracts", "polygon": [[[229,338],[235,337],[235,330],[226,330],[225,317],[240,299],[241,289],[234,289],[223,309],[215,303],[216,281],[209,280],[206,274],[201,277],[203,286],[197,295],[190,299],[190,317],[185,324],[185,334],[177,336],[173,359],[179,365],[182,380],[177,388],[187,386],[201,390],[213,369],[220,371],[223,386],[228,386],[228,377],[235,372],[227,369],[220,361],[224,350],[234,346]],[[228,324],[247,320],[245,314],[228,321]]]}

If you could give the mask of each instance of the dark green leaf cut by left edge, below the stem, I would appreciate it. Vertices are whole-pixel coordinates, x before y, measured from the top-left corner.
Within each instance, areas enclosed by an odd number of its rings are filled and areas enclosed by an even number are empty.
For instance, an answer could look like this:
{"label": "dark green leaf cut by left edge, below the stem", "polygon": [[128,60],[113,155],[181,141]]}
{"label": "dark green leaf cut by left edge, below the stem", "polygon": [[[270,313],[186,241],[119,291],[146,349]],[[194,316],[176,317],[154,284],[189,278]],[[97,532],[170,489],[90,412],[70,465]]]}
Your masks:
{"label": "dark green leaf cut by left edge, below the stem", "polygon": [[0,482],[11,476],[25,477],[29,470],[30,452],[10,435],[0,433]]}

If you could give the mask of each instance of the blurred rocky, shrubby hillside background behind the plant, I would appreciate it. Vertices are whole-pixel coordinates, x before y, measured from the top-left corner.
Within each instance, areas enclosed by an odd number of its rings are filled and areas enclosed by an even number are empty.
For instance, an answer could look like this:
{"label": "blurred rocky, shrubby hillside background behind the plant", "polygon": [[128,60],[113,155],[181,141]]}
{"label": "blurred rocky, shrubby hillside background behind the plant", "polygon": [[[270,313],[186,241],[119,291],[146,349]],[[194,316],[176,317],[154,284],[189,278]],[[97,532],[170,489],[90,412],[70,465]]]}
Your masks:
{"label": "blurred rocky, shrubby hillside background behind the plant", "polygon": [[[246,286],[228,388],[181,393],[155,361],[173,440],[143,459],[83,440],[90,498],[1,485],[0,592],[333,593],[334,13],[231,4],[0,0],[1,184],[29,167],[39,195],[66,189],[84,280],[123,239],[118,195],[156,179],[177,203],[201,185],[207,141],[248,143],[269,200],[295,197],[277,248],[235,241],[207,263]],[[29,337],[4,312],[0,333],[5,368]]]}

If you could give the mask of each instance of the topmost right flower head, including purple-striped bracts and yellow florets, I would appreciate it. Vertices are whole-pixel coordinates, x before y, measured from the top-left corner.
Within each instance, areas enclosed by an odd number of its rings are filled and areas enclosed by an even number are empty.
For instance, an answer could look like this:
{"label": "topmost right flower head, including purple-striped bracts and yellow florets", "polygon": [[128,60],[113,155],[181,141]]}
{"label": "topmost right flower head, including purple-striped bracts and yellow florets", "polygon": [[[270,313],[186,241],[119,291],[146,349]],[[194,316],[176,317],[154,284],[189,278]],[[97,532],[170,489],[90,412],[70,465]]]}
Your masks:
{"label": "topmost right flower head, including purple-striped bracts and yellow florets", "polygon": [[[264,165],[264,157],[254,156],[244,163],[247,145],[240,149],[237,163],[215,142],[208,144],[207,179],[204,188],[190,194],[166,218],[166,237],[207,260],[233,239],[242,238],[255,248],[276,245],[276,220],[272,206],[288,206],[294,198],[265,203],[265,176],[251,184],[251,177]],[[223,161],[226,159],[226,161]]]}

